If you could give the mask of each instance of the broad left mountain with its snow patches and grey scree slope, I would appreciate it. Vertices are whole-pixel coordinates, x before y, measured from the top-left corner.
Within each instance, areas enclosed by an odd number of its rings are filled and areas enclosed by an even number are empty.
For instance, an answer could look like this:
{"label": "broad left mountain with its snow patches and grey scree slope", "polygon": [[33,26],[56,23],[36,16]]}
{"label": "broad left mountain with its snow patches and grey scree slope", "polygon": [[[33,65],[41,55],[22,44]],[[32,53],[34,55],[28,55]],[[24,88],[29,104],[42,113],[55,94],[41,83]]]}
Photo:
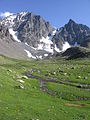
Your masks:
{"label": "broad left mountain with its snow patches and grey scree slope", "polygon": [[27,12],[10,15],[0,21],[0,54],[25,59],[47,57],[53,53],[54,32],[39,15]]}

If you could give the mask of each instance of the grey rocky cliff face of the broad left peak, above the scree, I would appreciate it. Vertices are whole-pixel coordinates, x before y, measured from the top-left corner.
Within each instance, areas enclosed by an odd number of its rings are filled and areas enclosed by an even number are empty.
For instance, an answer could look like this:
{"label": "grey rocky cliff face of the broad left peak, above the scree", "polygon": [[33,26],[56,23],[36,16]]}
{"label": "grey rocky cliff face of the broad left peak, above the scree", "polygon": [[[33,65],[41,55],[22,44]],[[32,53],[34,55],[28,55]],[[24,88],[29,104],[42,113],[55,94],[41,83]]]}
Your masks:
{"label": "grey rocky cliff face of the broad left peak, above the scree", "polygon": [[49,22],[46,22],[40,15],[29,12],[11,15],[5,18],[3,23],[10,29],[11,34],[14,31],[21,42],[33,47],[38,47],[40,39],[46,38],[54,31]]}

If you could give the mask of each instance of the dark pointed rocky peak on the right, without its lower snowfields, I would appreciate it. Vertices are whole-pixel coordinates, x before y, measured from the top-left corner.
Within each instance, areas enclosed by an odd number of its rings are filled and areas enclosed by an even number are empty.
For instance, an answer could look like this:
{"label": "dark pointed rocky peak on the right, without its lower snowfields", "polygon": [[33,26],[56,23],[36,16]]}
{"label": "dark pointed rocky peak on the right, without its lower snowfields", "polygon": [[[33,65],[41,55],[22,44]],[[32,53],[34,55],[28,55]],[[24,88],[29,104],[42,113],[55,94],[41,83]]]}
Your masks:
{"label": "dark pointed rocky peak on the right, without its lower snowfields", "polygon": [[[86,25],[77,24],[73,20],[62,28],[60,28],[53,37],[59,49],[62,49],[62,44],[68,42],[70,46],[81,45],[86,41],[86,37],[90,35],[90,28]],[[67,44],[68,45],[68,44]]]}

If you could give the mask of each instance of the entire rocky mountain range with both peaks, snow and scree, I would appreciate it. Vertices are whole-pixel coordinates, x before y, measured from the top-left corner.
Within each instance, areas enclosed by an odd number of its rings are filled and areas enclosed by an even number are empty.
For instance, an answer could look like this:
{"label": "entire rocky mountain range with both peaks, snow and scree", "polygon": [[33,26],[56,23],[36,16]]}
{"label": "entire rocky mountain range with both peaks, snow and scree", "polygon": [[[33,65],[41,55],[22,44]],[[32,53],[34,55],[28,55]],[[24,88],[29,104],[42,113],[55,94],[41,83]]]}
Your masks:
{"label": "entire rocky mountain range with both peaks, snow and scree", "polygon": [[21,12],[0,20],[0,54],[13,58],[42,59],[72,46],[89,47],[90,28],[72,19],[55,29],[40,15]]}

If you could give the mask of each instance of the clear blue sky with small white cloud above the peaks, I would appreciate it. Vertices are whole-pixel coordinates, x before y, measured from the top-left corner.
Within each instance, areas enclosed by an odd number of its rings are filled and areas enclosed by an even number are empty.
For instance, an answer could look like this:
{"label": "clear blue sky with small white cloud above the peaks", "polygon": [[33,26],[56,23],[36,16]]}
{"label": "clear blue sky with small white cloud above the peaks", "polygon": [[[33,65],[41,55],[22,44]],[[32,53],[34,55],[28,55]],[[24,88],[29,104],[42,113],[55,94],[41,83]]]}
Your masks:
{"label": "clear blue sky with small white cloud above the peaks", "polygon": [[69,19],[90,27],[90,0],[0,0],[0,15],[33,12],[59,28]]}

